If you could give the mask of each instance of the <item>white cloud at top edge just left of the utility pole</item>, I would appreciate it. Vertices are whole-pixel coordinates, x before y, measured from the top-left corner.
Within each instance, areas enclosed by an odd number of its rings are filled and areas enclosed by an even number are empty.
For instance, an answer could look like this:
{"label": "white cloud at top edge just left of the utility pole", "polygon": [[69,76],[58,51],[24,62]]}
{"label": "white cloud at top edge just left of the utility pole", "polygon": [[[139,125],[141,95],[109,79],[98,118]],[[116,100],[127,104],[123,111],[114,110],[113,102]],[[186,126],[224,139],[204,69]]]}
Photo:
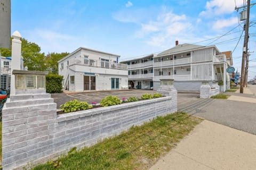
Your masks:
{"label": "white cloud at top edge just left of the utility pole", "polygon": [[[243,5],[243,0],[236,0],[236,5]],[[211,0],[206,2],[205,10],[202,11],[199,15],[206,18],[211,18],[218,15],[233,13],[234,11],[234,0]]]}

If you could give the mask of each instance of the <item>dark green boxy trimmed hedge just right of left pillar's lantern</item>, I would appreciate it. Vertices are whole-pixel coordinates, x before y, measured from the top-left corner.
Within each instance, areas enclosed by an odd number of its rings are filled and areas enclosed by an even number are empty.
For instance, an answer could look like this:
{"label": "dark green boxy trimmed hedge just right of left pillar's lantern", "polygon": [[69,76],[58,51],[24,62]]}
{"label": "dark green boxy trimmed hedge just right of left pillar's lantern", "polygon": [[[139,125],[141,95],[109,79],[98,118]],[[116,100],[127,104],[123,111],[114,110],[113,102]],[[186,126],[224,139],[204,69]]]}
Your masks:
{"label": "dark green boxy trimmed hedge just right of left pillar's lantern", "polygon": [[62,92],[63,76],[58,74],[46,75],[46,92],[50,94],[55,92]]}

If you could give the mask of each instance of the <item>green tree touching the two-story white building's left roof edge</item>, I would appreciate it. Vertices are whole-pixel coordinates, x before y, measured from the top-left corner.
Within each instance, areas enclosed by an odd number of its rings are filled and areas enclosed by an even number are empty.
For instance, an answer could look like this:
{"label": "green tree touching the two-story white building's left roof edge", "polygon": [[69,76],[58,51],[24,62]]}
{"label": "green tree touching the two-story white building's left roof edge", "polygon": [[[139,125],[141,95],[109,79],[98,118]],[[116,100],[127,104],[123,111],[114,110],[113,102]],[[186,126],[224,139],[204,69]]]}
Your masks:
{"label": "green tree touching the two-story white building's left roof edge", "polygon": [[58,74],[58,61],[69,53],[49,53],[46,55],[47,71],[52,74]]}

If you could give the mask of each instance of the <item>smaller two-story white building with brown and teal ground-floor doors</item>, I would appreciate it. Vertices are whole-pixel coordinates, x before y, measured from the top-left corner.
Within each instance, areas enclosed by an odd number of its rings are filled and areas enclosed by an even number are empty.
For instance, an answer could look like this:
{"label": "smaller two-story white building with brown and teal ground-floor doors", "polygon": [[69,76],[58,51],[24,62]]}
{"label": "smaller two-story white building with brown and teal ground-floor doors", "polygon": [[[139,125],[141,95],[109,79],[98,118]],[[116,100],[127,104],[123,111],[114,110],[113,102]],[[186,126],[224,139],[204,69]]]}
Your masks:
{"label": "smaller two-story white building with brown and teal ground-floor doors", "polygon": [[80,47],[59,63],[63,88],[69,91],[127,89],[128,71],[119,55]]}

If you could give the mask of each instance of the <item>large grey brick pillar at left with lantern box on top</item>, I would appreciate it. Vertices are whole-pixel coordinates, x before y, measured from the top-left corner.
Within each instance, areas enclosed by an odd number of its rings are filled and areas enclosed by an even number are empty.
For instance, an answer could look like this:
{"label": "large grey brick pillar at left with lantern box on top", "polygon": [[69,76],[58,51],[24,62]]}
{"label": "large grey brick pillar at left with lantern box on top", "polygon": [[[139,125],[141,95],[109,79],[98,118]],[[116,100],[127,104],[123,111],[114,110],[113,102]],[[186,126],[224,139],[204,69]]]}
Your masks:
{"label": "large grey brick pillar at left with lantern box on top", "polygon": [[12,74],[15,94],[6,101],[2,116],[2,163],[6,170],[22,169],[39,158],[43,162],[56,147],[57,106],[45,92],[47,72],[13,70]]}

